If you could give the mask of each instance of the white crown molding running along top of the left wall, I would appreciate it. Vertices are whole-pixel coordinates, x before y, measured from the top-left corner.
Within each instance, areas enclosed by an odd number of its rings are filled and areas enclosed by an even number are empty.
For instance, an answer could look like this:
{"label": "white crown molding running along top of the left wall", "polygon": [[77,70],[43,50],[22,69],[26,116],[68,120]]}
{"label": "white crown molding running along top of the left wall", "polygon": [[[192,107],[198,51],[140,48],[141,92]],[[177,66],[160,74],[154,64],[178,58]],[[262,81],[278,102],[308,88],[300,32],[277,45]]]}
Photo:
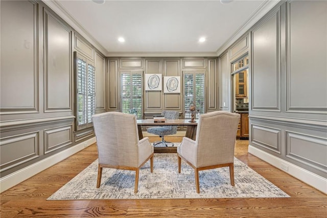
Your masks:
{"label": "white crown molding running along top of the left wall", "polygon": [[94,38],[78,21],[69,13],[58,1],[56,0],[42,0],[42,2],[48,5],[54,12],[56,12],[67,24],[71,25],[80,35],[82,35],[88,42],[90,42],[96,49],[98,49],[103,55],[106,55],[108,51],[101,45],[101,43]]}

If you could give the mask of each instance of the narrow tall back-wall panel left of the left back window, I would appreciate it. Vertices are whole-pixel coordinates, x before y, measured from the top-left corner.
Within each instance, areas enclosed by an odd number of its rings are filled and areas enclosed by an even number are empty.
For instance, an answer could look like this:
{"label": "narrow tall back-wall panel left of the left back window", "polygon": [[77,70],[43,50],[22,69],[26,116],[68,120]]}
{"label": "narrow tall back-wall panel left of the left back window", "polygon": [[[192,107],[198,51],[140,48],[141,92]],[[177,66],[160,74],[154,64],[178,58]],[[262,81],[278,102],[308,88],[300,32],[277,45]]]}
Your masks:
{"label": "narrow tall back-wall panel left of the left back window", "polygon": [[118,60],[108,60],[108,109],[118,110]]}

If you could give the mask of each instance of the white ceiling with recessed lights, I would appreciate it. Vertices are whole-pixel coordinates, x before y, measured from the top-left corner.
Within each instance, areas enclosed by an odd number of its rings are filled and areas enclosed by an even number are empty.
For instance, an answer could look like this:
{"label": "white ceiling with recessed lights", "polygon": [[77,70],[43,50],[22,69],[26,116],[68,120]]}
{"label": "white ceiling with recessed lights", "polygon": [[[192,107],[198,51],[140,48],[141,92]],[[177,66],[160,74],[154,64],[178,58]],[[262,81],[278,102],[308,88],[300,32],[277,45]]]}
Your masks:
{"label": "white ceiling with recessed lights", "polygon": [[[53,2],[60,13],[74,23],[73,27],[95,42],[106,56],[145,53],[217,56],[229,46],[231,38],[240,37],[251,21],[253,23],[265,13],[263,8],[271,1],[222,0],[225,4],[219,0]],[[119,37],[124,37],[125,42],[118,41]],[[199,42],[200,37],[206,40]]]}

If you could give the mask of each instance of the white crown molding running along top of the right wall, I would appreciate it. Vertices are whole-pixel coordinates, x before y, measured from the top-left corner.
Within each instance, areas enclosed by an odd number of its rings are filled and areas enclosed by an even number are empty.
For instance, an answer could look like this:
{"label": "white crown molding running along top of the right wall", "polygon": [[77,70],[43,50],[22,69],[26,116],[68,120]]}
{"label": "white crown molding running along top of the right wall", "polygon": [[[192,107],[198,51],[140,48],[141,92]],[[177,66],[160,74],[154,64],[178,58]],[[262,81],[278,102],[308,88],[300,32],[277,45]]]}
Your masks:
{"label": "white crown molding running along top of the right wall", "polygon": [[232,45],[236,40],[238,40],[244,33],[246,33],[256,22],[258,22],[265,14],[267,14],[275,5],[277,5],[281,0],[265,0],[261,6],[256,9],[247,18],[242,25],[232,34],[230,37],[218,50],[217,56],[221,55],[228,47]]}

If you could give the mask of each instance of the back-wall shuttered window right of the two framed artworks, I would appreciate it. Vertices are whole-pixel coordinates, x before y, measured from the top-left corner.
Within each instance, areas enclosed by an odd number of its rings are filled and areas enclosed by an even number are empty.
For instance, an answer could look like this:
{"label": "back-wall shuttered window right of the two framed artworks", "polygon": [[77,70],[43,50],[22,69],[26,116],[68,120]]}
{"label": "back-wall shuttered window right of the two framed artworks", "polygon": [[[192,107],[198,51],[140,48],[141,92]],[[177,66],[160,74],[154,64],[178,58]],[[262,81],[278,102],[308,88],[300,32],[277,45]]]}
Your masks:
{"label": "back-wall shuttered window right of the two framed artworks", "polygon": [[[204,72],[184,72],[184,111],[189,111],[190,104],[193,101],[197,113],[204,114],[204,87]],[[191,113],[185,113],[184,117],[185,119],[191,118]]]}

